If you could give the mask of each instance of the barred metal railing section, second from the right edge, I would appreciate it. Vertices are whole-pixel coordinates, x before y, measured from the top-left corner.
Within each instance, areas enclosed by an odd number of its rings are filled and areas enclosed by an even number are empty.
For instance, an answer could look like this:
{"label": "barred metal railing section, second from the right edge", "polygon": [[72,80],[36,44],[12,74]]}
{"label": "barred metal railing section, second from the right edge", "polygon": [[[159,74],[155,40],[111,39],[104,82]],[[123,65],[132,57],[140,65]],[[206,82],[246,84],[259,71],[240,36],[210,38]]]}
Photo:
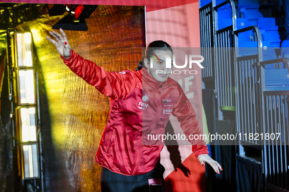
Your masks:
{"label": "barred metal railing section, second from the right edge", "polygon": [[[262,36],[257,26],[250,26],[241,30],[234,31],[235,38],[245,31],[253,30],[256,34],[258,45],[262,47]],[[235,48],[235,81],[236,81],[236,122],[240,133],[261,133],[260,114],[258,110],[258,92],[257,69],[254,66],[256,62],[263,60],[262,48],[256,48],[257,55],[239,57],[239,51],[242,48]],[[261,83],[261,82],[260,82]],[[242,135],[241,144],[260,145],[260,140],[249,140],[247,135]]]}

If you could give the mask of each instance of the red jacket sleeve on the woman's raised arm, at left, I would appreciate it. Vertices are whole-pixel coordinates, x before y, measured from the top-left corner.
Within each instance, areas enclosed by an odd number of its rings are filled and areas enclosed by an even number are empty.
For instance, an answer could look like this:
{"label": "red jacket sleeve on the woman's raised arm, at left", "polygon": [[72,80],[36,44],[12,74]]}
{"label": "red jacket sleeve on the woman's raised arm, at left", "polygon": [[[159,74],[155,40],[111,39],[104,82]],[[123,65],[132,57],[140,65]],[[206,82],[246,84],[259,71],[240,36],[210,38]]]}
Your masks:
{"label": "red jacket sleeve on the woman's raised arm, at left", "polygon": [[94,86],[103,95],[113,99],[122,99],[129,95],[139,83],[138,79],[141,79],[131,70],[108,72],[92,61],[82,58],[73,50],[69,58],[61,58],[77,76]]}

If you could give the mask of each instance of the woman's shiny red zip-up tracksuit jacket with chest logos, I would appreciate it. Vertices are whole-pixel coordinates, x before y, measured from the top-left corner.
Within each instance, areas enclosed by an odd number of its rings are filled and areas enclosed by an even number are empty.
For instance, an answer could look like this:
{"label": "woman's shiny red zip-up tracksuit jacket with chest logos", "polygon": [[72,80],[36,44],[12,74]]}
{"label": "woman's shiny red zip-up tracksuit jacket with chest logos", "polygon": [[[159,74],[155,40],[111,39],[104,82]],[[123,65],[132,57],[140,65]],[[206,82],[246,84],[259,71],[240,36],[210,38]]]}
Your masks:
{"label": "woman's shiny red zip-up tracksuit jacket with chest logos", "polygon": [[[164,134],[170,114],[178,118],[187,138],[202,134],[190,101],[170,77],[158,82],[146,69],[107,72],[72,50],[70,57],[63,59],[76,75],[111,97],[109,120],[95,155],[99,165],[124,175],[153,170],[163,142],[149,140],[148,134]],[[208,154],[203,140],[188,140],[196,156]]]}

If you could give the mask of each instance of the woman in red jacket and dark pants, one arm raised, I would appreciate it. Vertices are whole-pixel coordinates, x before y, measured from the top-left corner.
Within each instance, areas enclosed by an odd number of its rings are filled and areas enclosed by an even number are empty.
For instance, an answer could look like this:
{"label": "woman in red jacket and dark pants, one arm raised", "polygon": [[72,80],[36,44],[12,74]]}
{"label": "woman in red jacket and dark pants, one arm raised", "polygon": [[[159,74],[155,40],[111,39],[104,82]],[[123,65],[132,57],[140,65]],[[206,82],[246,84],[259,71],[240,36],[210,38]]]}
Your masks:
{"label": "woman in red jacket and dark pants, one arm raised", "polygon": [[[163,134],[170,113],[180,122],[184,133],[201,134],[196,114],[178,83],[169,77],[164,55],[173,58],[173,50],[164,41],[152,42],[145,51],[138,71],[107,72],[71,50],[67,36],[49,32],[64,63],[102,94],[111,97],[109,121],[102,135],[95,161],[102,168],[103,192],[163,191],[164,168],[160,165],[163,142],[150,140],[149,134]],[[150,59],[153,55],[156,60]],[[151,63],[153,62],[153,63]],[[152,66],[153,65],[153,66]],[[142,68],[144,66],[144,68]],[[156,73],[162,70],[165,73]],[[163,100],[170,99],[170,105]],[[203,140],[190,140],[202,166],[207,162],[220,174]]]}

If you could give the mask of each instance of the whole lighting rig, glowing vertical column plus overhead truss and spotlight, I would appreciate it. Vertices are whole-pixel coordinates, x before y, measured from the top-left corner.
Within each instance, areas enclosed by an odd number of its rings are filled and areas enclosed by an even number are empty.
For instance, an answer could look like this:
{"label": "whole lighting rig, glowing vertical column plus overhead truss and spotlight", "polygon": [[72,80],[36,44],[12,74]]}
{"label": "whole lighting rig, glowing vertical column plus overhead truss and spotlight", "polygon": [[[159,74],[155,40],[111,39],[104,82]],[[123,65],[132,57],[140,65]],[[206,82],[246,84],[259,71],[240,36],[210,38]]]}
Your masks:
{"label": "whole lighting rig, glowing vertical column plus overhead truss and spotlight", "polygon": [[[33,63],[30,32],[17,25],[67,14],[53,29],[87,31],[85,19],[97,5],[0,3],[0,36],[6,36],[6,65],[10,101],[11,139],[15,192],[44,192],[38,73]],[[2,43],[3,44],[3,43]]]}

